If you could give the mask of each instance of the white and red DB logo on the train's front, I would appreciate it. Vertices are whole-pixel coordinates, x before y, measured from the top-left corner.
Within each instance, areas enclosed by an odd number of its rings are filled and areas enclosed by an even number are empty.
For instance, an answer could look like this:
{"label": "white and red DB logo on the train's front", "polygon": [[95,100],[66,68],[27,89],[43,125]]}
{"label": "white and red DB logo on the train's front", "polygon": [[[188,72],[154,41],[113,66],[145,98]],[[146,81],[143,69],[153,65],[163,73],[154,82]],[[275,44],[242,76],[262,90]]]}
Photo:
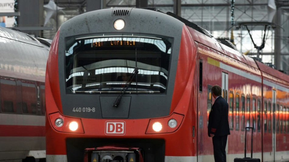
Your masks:
{"label": "white and red DB logo on the train's front", "polygon": [[106,121],[105,122],[106,135],[124,135],[125,122],[124,121]]}

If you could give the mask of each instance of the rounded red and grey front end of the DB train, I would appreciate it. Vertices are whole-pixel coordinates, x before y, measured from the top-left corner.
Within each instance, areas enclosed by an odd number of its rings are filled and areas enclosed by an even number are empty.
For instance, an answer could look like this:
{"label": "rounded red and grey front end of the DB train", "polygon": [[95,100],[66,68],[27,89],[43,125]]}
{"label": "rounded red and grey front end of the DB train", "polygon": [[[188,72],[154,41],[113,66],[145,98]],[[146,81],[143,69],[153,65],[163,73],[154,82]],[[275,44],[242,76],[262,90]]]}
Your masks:
{"label": "rounded red and grey front end of the DB train", "polygon": [[47,161],[196,159],[193,49],[186,26],[162,12],[65,22],[47,64]]}

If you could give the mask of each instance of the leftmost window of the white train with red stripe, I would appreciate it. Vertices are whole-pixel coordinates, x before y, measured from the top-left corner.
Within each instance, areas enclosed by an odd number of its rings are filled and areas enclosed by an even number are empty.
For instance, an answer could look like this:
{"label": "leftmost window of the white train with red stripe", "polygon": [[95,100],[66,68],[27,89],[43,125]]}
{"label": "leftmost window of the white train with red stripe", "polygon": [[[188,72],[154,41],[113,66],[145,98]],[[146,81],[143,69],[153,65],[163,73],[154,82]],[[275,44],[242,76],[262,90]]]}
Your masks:
{"label": "leftmost window of the white train with red stripe", "polygon": [[14,78],[0,77],[1,112],[16,113],[17,88]]}

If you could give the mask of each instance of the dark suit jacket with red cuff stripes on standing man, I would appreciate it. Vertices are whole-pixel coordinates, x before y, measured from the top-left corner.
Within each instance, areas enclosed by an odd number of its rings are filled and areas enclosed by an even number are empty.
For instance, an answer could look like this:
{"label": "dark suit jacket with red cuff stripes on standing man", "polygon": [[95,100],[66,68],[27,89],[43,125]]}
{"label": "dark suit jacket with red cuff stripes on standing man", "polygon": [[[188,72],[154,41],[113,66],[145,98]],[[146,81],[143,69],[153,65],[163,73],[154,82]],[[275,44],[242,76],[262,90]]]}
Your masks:
{"label": "dark suit jacket with red cuff stripes on standing man", "polygon": [[222,96],[219,96],[215,100],[209,115],[208,136],[210,134],[214,134],[215,136],[230,134],[228,111],[228,102]]}

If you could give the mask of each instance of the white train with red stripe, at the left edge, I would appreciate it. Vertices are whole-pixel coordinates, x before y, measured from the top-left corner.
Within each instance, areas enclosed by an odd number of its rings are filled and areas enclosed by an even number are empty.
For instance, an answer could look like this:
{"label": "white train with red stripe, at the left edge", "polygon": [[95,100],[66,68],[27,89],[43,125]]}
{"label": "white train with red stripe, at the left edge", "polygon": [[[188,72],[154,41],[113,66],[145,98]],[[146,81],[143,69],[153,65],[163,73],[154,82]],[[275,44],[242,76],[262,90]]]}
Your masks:
{"label": "white train with red stripe, at the left edge", "polygon": [[0,161],[45,161],[49,42],[0,27],[0,53]]}

